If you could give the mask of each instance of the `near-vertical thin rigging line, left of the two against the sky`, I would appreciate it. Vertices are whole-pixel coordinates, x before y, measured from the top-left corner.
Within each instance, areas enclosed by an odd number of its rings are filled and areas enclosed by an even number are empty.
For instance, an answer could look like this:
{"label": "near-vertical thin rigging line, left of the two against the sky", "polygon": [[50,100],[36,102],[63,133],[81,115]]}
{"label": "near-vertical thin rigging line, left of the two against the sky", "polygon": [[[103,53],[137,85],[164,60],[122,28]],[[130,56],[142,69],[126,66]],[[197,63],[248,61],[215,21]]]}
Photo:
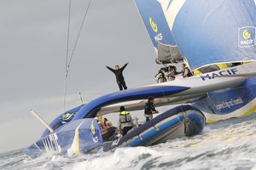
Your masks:
{"label": "near-vertical thin rigging line, left of the two against the sky", "polygon": [[65,108],[66,108],[66,95],[67,95],[67,60],[68,60],[68,51],[69,51],[69,33],[70,33],[71,1],[72,1],[72,0],[69,0],[69,7],[68,7],[68,21],[67,21],[67,52],[66,52],[66,66],[65,66],[64,105],[63,105],[63,111],[65,111]]}

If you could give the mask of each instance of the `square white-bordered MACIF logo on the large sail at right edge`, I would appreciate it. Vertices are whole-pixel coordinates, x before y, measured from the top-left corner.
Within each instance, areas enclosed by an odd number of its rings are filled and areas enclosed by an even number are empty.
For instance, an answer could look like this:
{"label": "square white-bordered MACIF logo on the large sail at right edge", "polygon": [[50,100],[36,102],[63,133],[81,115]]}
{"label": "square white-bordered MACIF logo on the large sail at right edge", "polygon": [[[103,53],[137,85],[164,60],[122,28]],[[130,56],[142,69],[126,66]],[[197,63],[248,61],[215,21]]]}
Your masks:
{"label": "square white-bordered MACIF logo on the large sail at right edge", "polygon": [[238,29],[238,46],[240,48],[249,48],[256,45],[255,41],[256,27],[247,26]]}

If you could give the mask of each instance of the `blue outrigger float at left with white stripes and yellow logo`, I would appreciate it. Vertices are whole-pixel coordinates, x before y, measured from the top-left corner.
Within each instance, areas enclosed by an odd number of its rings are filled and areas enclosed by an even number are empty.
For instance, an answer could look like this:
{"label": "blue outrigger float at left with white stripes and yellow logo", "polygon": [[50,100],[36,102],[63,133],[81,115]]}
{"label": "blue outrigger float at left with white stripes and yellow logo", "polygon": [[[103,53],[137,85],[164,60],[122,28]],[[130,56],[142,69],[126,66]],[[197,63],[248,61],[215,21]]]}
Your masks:
{"label": "blue outrigger float at left with white stripes and yellow logo", "polygon": [[101,129],[94,118],[68,122],[24,150],[36,158],[43,154],[79,154],[103,144]]}

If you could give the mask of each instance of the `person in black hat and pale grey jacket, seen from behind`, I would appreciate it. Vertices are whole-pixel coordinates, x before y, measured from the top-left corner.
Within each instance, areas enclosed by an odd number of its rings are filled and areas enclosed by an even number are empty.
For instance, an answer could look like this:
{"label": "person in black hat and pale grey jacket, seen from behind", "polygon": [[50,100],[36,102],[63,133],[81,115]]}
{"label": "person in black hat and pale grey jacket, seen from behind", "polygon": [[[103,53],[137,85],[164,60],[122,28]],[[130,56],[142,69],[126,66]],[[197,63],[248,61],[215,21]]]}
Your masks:
{"label": "person in black hat and pale grey jacket, seen from behind", "polygon": [[124,106],[121,106],[119,111],[119,133],[124,136],[129,130],[131,130],[134,124],[130,113],[125,111]]}

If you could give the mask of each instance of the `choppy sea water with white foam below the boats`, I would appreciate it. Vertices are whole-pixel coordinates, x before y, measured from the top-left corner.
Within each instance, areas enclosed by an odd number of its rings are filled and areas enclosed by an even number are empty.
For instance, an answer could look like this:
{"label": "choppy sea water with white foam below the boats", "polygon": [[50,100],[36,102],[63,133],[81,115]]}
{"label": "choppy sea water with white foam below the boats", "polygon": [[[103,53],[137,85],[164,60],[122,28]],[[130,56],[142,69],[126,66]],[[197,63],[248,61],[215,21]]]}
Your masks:
{"label": "choppy sea water with white foam below the boats", "polygon": [[15,150],[0,155],[0,169],[254,169],[256,114],[207,124],[200,135],[150,147],[79,156],[30,159]]}

